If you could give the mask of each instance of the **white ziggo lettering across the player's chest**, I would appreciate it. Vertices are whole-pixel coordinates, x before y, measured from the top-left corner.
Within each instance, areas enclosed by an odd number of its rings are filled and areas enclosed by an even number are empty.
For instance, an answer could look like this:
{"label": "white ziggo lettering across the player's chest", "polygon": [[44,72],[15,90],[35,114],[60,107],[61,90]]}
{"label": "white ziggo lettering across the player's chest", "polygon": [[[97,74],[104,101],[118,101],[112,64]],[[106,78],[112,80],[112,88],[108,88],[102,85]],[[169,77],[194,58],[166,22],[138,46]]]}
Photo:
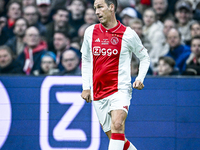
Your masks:
{"label": "white ziggo lettering across the player's chest", "polygon": [[118,54],[118,50],[117,49],[106,49],[106,48],[102,48],[99,46],[94,46],[93,47],[93,55],[94,56],[99,56],[99,55],[107,55],[107,56],[111,56],[111,55],[117,55]]}

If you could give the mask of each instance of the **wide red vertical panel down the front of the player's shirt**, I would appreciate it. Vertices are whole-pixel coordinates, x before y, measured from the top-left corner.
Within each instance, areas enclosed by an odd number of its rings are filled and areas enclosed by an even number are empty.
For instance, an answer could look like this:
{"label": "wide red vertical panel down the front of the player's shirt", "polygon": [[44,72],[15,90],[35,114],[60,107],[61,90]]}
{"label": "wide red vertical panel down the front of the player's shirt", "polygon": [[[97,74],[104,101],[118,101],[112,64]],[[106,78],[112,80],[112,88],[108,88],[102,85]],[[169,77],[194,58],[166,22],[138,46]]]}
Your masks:
{"label": "wide red vertical panel down the front of the player's shirt", "polygon": [[92,37],[94,100],[118,91],[118,70],[121,43],[126,27],[120,22],[106,30],[101,24],[94,27]]}

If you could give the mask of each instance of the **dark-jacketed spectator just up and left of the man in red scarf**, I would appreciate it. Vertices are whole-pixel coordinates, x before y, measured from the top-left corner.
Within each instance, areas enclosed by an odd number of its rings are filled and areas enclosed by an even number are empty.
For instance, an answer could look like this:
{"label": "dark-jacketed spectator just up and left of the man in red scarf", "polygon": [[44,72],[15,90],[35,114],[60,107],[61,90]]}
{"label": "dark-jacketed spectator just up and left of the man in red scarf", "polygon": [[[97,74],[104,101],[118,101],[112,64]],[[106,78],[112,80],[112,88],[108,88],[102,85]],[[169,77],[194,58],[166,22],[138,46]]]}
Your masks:
{"label": "dark-jacketed spectator just up and left of the man in red scarf", "polygon": [[24,50],[24,35],[27,28],[28,23],[24,18],[17,19],[13,30],[15,36],[6,42],[6,45],[10,47],[15,56],[19,56]]}

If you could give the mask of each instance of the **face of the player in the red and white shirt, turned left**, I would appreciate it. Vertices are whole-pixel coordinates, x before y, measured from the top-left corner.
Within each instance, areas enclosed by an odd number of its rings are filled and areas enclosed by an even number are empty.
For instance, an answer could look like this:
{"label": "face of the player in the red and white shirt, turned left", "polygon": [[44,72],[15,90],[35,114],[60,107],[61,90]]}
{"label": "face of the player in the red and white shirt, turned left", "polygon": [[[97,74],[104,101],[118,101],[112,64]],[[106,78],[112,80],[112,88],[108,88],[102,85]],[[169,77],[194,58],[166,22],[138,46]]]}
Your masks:
{"label": "face of the player in the red and white shirt, turned left", "polygon": [[105,0],[95,0],[94,9],[101,24],[107,24],[111,17],[110,6],[105,3]]}

